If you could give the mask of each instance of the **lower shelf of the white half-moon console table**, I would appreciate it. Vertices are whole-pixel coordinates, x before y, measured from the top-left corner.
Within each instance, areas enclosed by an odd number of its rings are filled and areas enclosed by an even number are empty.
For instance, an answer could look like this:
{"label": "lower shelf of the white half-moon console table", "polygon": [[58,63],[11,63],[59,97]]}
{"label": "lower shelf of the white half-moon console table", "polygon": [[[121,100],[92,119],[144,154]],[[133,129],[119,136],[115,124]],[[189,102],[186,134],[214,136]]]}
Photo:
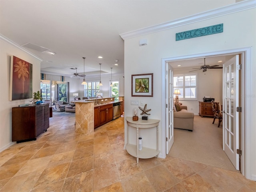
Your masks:
{"label": "lower shelf of the white half-moon console table", "polygon": [[160,153],[160,151],[157,151],[156,149],[142,147],[142,150],[139,150],[139,156],[137,156],[137,146],[133,144],[127,144],[126,150],[131,156],[141,159],[152,158]]}

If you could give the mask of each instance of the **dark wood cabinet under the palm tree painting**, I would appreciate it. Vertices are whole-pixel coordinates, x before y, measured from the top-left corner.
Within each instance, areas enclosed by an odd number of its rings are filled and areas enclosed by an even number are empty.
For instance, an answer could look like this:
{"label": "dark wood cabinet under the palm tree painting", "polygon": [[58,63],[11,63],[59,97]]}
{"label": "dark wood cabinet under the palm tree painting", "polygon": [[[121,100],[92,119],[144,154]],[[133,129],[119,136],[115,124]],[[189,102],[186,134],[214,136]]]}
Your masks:
{"label": "dark wood cabinet under the palm tree painting", "polygon": [[36,140],[48,128],[48,103],[12,108],[12,141]]}

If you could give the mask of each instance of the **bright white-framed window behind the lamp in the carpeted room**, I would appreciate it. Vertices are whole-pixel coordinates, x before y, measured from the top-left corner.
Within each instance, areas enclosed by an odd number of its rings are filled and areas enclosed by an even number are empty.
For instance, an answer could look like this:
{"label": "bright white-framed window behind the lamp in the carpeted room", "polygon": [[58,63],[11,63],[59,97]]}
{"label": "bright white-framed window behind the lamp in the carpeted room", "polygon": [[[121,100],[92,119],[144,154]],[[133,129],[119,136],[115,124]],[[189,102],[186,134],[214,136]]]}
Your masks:
{"label": "bright white-framed window behind the lamp in the carpeted room", "polygon": [[[190,75],[177,75],[173,77],[173,88],[180,90],[179,99],[196,100],[197,99],[197,76],[196,74]],[[174,94],[174,98],[175,98]]]}

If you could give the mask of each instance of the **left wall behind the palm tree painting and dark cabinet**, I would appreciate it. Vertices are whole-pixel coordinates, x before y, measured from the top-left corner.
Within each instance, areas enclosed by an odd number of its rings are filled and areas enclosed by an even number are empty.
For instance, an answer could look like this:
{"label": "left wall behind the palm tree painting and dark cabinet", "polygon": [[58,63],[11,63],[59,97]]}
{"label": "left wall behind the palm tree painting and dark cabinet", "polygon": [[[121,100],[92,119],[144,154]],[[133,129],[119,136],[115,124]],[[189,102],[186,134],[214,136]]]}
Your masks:
{"label": "left wall behind the palm tree painting and dark cabinet", "polygon": [[0,152],[12,142],[12,107],[30,103],[30,99],[10,101],[10,56],[16,56],[33,64],[33,92],[40,90],[40,60],[0,38]]}

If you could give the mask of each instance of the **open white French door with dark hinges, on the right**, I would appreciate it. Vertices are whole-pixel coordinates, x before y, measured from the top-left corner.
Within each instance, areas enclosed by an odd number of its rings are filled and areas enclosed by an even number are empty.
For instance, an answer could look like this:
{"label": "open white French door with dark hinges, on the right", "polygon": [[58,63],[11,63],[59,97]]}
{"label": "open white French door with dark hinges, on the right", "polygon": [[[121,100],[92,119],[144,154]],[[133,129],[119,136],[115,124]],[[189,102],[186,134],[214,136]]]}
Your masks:
{"label": "open white French door with dark hinges, on the right", "polygon": [[239,55],[223,64],[223,150],[239,170]]}

